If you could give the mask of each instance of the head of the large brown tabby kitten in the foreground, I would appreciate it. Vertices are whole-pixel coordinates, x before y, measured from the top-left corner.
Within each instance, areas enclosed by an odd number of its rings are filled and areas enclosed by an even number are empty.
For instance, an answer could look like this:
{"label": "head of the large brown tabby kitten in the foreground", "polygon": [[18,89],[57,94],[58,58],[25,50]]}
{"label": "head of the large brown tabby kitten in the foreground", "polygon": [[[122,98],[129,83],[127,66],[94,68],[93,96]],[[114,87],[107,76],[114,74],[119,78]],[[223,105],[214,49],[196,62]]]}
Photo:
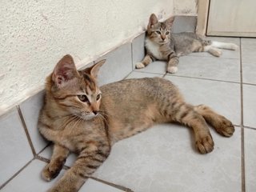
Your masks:
{"label": "head of the large brown tabby kitten in the foreground", "polygon": [[102,98],[96,79],[104,62],[106,60],[78,71],[73,58],[70,55],[64,56],[46,81],[46,92],[53,98],[54,105],[65,114],[85,120],[96,117]]}

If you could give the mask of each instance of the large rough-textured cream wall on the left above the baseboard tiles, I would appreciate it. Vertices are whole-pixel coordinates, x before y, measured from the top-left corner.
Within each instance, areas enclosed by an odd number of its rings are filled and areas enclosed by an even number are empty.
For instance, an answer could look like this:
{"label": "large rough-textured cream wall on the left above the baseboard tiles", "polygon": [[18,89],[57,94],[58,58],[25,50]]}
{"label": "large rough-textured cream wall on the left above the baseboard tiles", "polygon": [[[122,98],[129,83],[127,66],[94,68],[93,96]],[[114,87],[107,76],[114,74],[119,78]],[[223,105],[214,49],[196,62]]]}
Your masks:
{"label": "large rough-textured cream wall on the left above the baseboard tiles", "polygon": [[138,34],[151,13],[173,10],[173,0],[1,1],[0,110],[41,90],[64,54],[85,65]]}

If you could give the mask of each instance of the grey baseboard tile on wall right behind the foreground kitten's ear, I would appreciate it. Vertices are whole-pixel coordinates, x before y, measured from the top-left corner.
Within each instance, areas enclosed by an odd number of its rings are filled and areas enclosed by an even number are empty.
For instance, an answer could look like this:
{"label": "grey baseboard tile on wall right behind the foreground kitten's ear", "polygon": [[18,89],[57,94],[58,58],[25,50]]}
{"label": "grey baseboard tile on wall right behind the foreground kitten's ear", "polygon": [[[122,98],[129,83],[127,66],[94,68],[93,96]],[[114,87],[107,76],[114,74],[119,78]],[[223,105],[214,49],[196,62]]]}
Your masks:
{"label": "grey baseboard tile on wall right behind the foreground kitten's ear", "polygon": [[98,72],[98,83],[100,86],[117,82],[126,78],[132,71],[132,56],[131,56],[131,43],[126,43],[119,46],[116,50],[98,58],[98,61],[106,59],[106,63],[101,67]]}

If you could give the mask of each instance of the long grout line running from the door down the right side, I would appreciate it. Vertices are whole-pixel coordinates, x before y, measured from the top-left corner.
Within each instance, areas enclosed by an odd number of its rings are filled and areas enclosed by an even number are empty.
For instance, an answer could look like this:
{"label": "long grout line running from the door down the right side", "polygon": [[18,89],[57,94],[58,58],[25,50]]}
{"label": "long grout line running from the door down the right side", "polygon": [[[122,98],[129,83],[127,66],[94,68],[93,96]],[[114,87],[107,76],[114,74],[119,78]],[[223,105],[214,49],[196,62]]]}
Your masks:
{"label": "long grout line running from the door down the right side", "polygon": [[240,93],[241,93],[241,169],[242,169],[242,192],[246,192],[246,173],[245,173],[245,138],[243,126],[243,92],[242,92],[242,46],[240,38]]}

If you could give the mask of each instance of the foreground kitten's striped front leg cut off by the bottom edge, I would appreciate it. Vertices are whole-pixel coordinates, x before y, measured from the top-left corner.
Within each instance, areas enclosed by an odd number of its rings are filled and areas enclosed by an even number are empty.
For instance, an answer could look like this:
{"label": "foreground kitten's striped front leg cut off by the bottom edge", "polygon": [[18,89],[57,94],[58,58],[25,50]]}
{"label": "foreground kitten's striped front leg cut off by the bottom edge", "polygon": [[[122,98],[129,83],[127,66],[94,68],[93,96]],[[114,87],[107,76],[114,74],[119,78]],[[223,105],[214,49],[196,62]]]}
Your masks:
{"label": "foreground kitten's striped front leg cut off by the bottom edge", "polygon": [[91,141],[89,146],[78,155],[74,165],[48,192],[76,192],[86,179],[102,165],[110,154],[110,146],[106,143],[99,142],[95,145],[95,141]]}

